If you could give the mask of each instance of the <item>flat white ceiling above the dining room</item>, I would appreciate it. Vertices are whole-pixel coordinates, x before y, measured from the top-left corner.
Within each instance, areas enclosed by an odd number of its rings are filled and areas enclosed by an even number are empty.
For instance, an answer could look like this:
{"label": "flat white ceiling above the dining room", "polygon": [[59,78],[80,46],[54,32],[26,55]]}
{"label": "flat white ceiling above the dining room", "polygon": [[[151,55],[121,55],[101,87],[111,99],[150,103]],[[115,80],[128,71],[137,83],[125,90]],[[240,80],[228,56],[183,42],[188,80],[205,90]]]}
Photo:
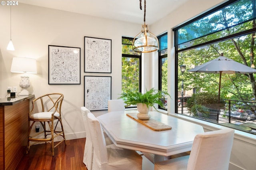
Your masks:
{"label": "flat white ceiling above the dining room", "polygon": [[[146,24],[152,24],[188,0],[146,0]],[[142,24],[144,0],[18,0],[19,3]]]}

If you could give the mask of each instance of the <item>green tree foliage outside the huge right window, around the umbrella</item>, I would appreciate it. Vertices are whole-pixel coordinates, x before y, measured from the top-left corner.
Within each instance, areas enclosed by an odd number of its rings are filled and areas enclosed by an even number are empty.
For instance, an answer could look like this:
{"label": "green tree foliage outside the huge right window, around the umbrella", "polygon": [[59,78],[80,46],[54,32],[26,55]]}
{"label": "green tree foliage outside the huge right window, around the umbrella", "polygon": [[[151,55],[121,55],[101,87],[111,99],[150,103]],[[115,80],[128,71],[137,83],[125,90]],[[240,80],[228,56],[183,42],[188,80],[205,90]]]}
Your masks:
{"label": "green tree foliage outside the huge right window, around the umbrella", "polygon": [[[242,2],[241,2],[242,3]],[[243,1],[244,5],[250,6]],[[202,25],[191,25],[190,30],[193,30],[198,35],[207,35],[209,31],[206,29],[214,30],[214,28],[227,26],[230,22],[237,22],[239,19],[246,18],[251,11],[245,12],[240,10],[241,6],[232,6],[218,13],[213,18],[204,18],[201,20]],[[255,10],[253,8],[253,10]],[[254,11],[255,13],[256,11]],[[236,17],[236,18],[228,18]],[[212,27],[214,26],[214,27]],[[187,43],[188,46],[209,42],[224,36],[230,36],[237,32],[256,28],[255,20],[238,24],[234,27],[216,32],[214,34],[208,34],[202,38],[193,40]],[[184,34],[186,36],[186,34]],[[243,63],[249,67],[254,67],[255,63],[255,50],[256,45],[254,44],[255,33],[243,35],[233,39],[227,39],[225,41],[216,42],[213,44],[198,47],[196,49],[190,49],[178,53],[179,65],[185,64],[186,69],[192,69],[198,65],[206,63],[212,59],[220,56],[220,53],[224,52],[224,56],[233,59],[234,61]],[[186,37],[185,37],[186,38]],[[189,38],[189,37],[188,37]],[[182,75],[178,72],[178,87],[180,90],[182,78],[184,79],[184,89],[190,90],[196,89],[196,92],[218,91],[219,74],[214,73],[190,73],[185,71]],[[251,101],[252,98],[256,98],[256,82],[253,74],[222,74],[221,80],[221,92],[220,95],[224,99],[234,99],[242,101]]]}

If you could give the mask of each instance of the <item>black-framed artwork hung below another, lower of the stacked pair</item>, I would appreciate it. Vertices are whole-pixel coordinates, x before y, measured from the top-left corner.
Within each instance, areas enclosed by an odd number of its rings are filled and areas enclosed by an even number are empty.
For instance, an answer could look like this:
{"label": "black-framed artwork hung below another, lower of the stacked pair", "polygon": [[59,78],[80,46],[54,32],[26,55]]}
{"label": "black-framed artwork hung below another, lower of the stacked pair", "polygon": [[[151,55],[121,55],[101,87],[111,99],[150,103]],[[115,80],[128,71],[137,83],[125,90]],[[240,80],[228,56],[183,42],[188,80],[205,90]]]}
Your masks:
{"label": "black-framed artwork hung below another, lower of the stacked pair", "polygon": [[111,76],[84,76],[84,106],[90,111],[108,109]]}

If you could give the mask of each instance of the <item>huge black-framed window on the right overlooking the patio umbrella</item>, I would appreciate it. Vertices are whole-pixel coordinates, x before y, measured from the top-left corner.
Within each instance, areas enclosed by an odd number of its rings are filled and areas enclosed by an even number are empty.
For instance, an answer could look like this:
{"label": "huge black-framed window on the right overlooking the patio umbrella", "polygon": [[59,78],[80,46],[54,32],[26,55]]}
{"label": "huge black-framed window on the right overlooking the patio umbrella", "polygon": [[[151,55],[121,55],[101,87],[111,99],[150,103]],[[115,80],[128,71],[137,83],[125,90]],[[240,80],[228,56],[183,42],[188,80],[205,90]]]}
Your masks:
{"label": "huge black-framed window on the right overlooking the patio umbrella", "polygon": [[[256,123],[256,83],[253,74],[222,74],[221,102],[218,103],[216,97],[220,74],[188,71],[216,59],[221,53],[254,68],[255,19],[256,0],[229,0],[174,28],[178,73],[176,99],[183,83],[187,97],[182,109],[176,107],[176,113],[214,123],[240,125],[246,123],[249,118],[251,123]],[[180,71],[180,65],[186,65],[184,73]],[[215,120],[209,118],[212,110],[217,113]],[[251,119],[252,117],[254,119]]]}

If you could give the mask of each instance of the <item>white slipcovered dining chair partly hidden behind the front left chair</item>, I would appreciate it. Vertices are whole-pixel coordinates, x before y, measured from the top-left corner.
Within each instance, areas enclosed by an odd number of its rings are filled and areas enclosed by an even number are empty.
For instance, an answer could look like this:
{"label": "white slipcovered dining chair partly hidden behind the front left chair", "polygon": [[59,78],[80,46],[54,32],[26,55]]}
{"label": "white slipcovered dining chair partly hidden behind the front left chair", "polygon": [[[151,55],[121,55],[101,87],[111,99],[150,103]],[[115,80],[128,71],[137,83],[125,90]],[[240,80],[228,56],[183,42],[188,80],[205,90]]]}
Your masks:
{"label": "white slipcovered dining chair partly hidden behind the front left chair", "polygon": [[[86,165],[86,168],[88,170],[92,170],[92,160],[93,160],[93,145],[92,145],[92,136],[90,134],[89,130],[89,124],[88,124],[88,119],[87,119],[87,114],[91,113],[89,109],[86,107],[81,107],[81,112],[82,112],[82,117],[84,121],[84,127],[86,130],[86,142],[84,146],[84,158],[83,162]],[[110,138],[104,134],[104,138],[106,141],[106,145],[113,144]]]}

